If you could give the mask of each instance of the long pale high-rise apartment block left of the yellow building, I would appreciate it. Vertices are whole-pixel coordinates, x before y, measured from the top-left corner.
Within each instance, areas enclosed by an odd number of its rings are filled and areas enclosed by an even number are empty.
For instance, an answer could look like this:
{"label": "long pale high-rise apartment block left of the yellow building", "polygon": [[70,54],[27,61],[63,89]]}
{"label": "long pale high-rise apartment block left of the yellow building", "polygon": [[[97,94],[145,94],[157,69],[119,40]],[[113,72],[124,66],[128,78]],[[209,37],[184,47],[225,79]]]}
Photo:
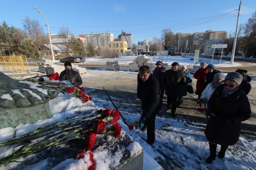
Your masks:
{"label": "long pale high-rise apartment block left of the yellow building", "polygon": [[81,34],[79,36],[84,36],[87,39],[87,43],[92,43],[95,48],[100,47],[102,49],[106,49],[107,43],[114,41],[114,34],[107,32],[107,33],[98,33],[94,34]]}

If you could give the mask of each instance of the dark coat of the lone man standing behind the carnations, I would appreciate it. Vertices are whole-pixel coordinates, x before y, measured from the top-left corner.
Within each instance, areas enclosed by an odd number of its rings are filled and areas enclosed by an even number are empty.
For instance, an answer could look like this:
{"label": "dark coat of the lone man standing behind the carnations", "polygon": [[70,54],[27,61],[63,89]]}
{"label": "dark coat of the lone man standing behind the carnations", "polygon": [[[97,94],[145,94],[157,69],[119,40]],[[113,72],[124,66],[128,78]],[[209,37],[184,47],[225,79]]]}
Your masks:
{"label": "dark coat of the lone man standing behind the carnations", "polygon": [[66,71],[62,71],[60,73],[60,79],[59,81],[68,80],[70,83],[74,85],[81,85],[82,84],[82,78],[80,74],[76,71],[74,71],[72,68],[69,70],[68,74],[64,74]]}

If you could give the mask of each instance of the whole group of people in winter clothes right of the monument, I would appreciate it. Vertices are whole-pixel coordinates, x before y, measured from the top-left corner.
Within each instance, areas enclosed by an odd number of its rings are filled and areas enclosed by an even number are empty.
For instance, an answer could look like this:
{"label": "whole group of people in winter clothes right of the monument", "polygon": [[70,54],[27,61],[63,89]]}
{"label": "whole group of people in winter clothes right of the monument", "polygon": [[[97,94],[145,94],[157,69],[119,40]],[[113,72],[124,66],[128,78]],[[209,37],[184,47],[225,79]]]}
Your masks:
{"label": "whole group of people in winter clothes right of the monument", "polygon": [[[196,81],[197,103],[205,103],[208,112],[204,134],[209,141],[210,156],[206,163],[216,158],[217,144],[221,146],[218,158],[225,156],[226,149],[236,144],[240,136],[241,122],[250,118],[251,109],[247,94],[251,90],[251,78],[244,69],[228,74],[216,70],[206,62],[194,73]],[[161,61],[156,62],[153,73],[147,65],[142,65],[138,73],[137,96],[141,100],[142,116],[139,123],[144,123],[141,130],[147,130],[147,143],[155,140],[155,119],[162,108],[164,94],[167,96],[166,112],[176,115],[176,108],[184,104],[188,83],[192,77],[186,65],[179,69],[174,62],[167,70]]]}

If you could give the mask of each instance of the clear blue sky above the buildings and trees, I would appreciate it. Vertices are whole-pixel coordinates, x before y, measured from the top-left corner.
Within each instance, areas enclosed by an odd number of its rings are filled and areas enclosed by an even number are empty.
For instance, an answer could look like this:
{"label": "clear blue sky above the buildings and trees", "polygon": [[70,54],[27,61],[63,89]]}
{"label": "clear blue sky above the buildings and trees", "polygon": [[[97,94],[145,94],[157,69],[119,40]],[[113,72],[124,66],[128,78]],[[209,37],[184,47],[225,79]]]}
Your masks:
{"label": "clear blue sky above the buildings and trees", "polygon": [[[29,16],[46,25],[35,6],[46,15],[52,34],[58,34],[62,26],[75,36],[110,31],[117,37],[123,30],[133,34],[133,43],[137,44],[140,40],[161,38],[166,28],[174,34],[235,32],[239,3],[240,0],[1,0],[0,22],[22,28],[22,19]],[[246,23],[255,10],[256,0],[242,0],[239,23]]]}

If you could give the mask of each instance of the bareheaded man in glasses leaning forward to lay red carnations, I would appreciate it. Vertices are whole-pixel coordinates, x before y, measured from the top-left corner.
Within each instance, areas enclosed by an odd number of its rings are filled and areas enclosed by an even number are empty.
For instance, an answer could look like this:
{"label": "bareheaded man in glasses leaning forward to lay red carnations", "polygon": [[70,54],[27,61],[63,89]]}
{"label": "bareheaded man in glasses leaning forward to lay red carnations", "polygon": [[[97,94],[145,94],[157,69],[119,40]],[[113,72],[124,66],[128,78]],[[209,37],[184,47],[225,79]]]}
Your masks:
{"label": "bareheaded man in glasses leaning forward to lay red carnations", "polygon": [[147,65],[142,65],[138,73],[137,97],[141,100],[142,115],[139,123],[144,123],[142,131],[147,130],[147,143],[153,144],[155,140],[156,115],[162,107],[162,95],[158,80],[150,73]]}

